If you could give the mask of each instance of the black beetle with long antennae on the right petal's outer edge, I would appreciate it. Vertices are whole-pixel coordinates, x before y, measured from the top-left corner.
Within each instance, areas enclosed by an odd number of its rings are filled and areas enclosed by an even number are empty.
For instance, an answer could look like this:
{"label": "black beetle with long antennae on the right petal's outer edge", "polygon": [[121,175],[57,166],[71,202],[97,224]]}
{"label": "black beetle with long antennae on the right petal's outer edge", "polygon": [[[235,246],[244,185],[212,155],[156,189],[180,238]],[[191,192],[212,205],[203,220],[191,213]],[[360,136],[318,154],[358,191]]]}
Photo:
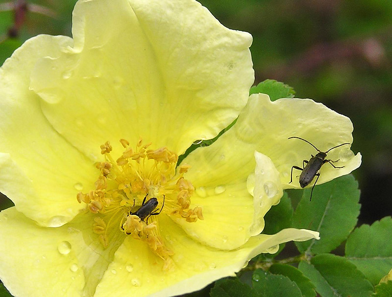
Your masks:
{"label": "black beetle with long antennae on the right petal's outer edge", "polygon": [[[301,186],[301,188],[305,188],[306,186],[308,186],[313,181],[315,176],[317,175],[316,182],[314,183],[314,185],[312,187],[312,190],[310,192],[310,200],[309,201],[311,201],[312,200],[313,189],[315,188],[315,186],[317,184],[317,181],[319,180],[319,177],[320,177],[319,169],[321,168],[321,166],[323,164],[325,164],[326,162],[328,162],[334,168],[343,168],[344,167],[344,166],[339,167],[339,166],[335,166],[334,164],[332,164],[332,163],[338,162],[340,159],[338,159],[336,161],[325,159],[327,157],[327,153],[330,150],[333,150],[334,148],[340,147],[340,146],[345,145],[345,144],[350,144],[350,143],[345,142],[345,143],[339,144],[337,146],[334,146],[333,148],[330,148],[326,152],[321,152],[316,146],[314,146],[308,140],[305,140],[305,139],[297,137],[297,136],[292,136],[292,137],[289,137],[288,139],[291,139],[291,138],[301,139],[301,140],[309,143],[311,146],[313,146],[319,152],[319,153],[317,153],[316,156],[311,155],[312,158],[310,158],[309,161],[303,160],[302,161],[303,168],[298,167],[298,166],[291,167],[291,179],[290,179],[290,183],[289,184],[291,184],[293,182],[293,169],[295,168],[295,169],[298,169],[298,170],[302,171],[301,175],[299,176],[299,185]],[[306,163],[306,165],[305,165],[305,163]]]}

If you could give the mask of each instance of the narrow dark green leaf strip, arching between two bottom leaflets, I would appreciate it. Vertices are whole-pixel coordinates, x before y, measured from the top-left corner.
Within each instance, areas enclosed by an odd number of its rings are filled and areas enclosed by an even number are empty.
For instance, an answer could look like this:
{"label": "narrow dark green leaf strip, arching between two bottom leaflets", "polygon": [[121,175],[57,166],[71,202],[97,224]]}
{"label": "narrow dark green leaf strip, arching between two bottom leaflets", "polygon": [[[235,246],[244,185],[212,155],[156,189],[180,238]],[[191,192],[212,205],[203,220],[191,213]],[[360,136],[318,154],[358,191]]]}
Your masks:
{"label": "narrow dark green leaf strip, arching between two bottom leaflets", "polygon": [[301,271],[287,264],[273,264],[269,270],[272,274],[281,274],[294,281],[301,290],[302,296],[316,296],[315,285]]}

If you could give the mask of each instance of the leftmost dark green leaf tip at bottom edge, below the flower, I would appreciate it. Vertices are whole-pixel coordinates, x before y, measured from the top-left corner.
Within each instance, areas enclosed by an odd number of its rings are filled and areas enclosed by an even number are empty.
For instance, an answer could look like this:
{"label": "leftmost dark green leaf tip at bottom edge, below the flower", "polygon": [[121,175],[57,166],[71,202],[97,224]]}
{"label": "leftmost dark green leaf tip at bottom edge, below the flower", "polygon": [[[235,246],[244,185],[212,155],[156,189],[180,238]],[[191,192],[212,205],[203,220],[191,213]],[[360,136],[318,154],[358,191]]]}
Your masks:
{"label": "leftmost dark green leaf tip at bottom edge, below the flower", "polygon": [[255,290],[242,283],[238,278],[217,282],[210,292],[211,297],[257,297]]}

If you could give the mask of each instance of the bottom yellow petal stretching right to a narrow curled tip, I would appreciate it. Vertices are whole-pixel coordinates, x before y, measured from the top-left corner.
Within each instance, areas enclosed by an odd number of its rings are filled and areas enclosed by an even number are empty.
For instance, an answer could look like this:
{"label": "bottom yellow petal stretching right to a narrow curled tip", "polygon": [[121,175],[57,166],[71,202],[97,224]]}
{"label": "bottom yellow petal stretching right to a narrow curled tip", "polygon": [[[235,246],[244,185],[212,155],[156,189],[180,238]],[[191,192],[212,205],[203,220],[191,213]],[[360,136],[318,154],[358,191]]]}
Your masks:
{"label": "bottom yellow petal stretching right to a narrow curled tip", "polygon": [[221,251],[193,241],[169,218],[160,218],[160,226],[162,237],[174,252],[175,269],[163,271],[162,260],[146,244],[125,241],[99,283],[95,297],[158,297],[193,292],[221,277],[233,276],[251,258],[279,243],[318,238],[318,232],[285,229],[275,235],[252,237],[239,249]]}

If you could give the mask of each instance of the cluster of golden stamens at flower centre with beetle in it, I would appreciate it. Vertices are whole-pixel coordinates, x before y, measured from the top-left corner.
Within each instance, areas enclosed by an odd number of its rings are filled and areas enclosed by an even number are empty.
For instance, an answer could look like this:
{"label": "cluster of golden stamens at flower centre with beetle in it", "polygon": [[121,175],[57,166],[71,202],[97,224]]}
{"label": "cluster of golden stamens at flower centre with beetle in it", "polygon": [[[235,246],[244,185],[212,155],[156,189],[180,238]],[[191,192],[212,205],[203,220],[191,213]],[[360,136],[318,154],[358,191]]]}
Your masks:
{"label": "cluster of golden stamens at flower centre with beetle in it", "polygon": [[79,192],[77,201],[97,214],[93,231],[104,247],[109,233],[123,232],[145,241],[165,261],[164,270],[169,270],[173,253],[159,235],[158,216],[178,216],[187,222],[203,219],[201,207],[189,208],[195,189],[184,174],[190,166],[181,165],[176,173],[178,156],[167,147],[147,149],[151,143],[143,144],[142,139],[135,148],[125,139],[120,142],[125,150],[116,161],[109,141],[100,146],[105,161],[96,163],[99,176],[95,189]]}

